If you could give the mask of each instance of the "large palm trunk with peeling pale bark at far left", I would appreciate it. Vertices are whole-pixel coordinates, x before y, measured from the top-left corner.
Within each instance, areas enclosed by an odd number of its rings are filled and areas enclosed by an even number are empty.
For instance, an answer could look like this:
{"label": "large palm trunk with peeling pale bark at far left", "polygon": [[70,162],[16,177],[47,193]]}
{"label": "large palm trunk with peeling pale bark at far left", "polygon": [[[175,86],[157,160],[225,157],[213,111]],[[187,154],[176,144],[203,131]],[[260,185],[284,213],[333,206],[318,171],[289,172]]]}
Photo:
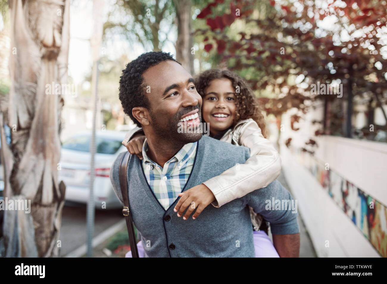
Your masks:
{"label": "large palm trunk with peeling pale bark at far left", "polygon": [[2,152],[11,161],[4,168],[5,197],[27,200],[31,213],[4,211],[5,255],[55,257],[65,197],[65,185],[57,180],[63,88],[56,84],[67,83],[70,0],[9,0],[9,5],[11,145],[2,143]]}

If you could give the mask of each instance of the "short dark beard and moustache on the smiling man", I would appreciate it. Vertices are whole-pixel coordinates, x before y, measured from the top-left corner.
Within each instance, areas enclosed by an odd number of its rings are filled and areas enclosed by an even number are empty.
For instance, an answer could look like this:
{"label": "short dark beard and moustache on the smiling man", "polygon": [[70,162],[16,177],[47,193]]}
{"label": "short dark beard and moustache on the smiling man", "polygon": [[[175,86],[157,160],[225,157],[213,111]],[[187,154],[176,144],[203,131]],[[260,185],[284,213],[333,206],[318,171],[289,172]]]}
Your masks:
{"label": "short dark beard and moustache on the smiling man", "polygon": [[176,113],[175,117],[173,117],[171,121],[168,123],[159,123],[159,120],[156,117],[154,117],[152,113],[150,113],[150,116],[152,118],[152,128],[154,130],[154,133],[158,135],[161,139],[171,140],[176,142],[176,144],[185,145],[187,143],[198,141],[203,135],[202,132],[197,131],[197,132],[191,132],[191,133],[179,133],[178,131],[180,117],[196,109],[199,109],[197,114],[199,115],[199,121],[201,122],[202,113],[200,111],[199,105],[194,106],[190,109],[185,108],[184,110],[182,110],[182,112]]}

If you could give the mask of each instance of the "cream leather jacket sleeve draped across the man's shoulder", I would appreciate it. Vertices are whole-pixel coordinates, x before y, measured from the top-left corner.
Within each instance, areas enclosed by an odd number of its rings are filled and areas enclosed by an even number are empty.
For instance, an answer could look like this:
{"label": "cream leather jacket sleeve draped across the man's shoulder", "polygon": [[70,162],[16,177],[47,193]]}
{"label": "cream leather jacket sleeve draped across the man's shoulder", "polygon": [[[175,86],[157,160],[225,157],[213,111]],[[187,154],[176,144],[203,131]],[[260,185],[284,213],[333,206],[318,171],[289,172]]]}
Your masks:
{"label": "cream leather jacket sleeve draped across the man's shoulder", "polygon": [[239,144],[250,148],[250,158],[203,183],[214,194],[212,205],[217,208],[267,186],[281,172],[281,158],[257,123],[250,120],[242,131]]}

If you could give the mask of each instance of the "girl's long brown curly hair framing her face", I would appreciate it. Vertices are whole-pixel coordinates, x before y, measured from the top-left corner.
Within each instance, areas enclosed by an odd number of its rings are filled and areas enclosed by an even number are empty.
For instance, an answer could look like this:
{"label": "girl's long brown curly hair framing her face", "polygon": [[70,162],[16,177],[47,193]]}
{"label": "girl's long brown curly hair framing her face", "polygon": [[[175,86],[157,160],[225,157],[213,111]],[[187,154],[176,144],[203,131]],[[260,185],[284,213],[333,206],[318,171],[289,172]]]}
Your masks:
{"label": "girl's long brown curly hair framing her face", "polygon": [[200,73],[195,78],[196,90],[200,96],[204,97],[204,90],[210,85],[211,81],[222,78],[229,79],[234,90],[238,90],[237,86],[239,86],[240,90],[239,93],[235,92],[236,116],[232,126],[234,127],[240,120],[252,118],[261,128],[262,135],[267,138],[265,117],[262,114],[263,108],[257,103],[253,90],[243,78],[229,70],[210,69]]}

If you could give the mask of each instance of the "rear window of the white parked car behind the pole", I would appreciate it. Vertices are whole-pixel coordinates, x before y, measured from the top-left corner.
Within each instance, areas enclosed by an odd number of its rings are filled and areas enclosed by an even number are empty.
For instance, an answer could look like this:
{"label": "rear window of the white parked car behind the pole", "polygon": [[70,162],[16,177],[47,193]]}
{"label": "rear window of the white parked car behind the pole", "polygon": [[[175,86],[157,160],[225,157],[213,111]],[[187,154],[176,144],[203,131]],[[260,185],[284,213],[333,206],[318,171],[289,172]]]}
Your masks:
{"label": "rear window of the white parked car behind the pole", "polygon": [[[121,147],[121,140],[108,137],[96,137],[96,152],[99,154],[115,154]],[[63,149],[90,152],[90,137],[77,136],[68,139],[62,144]]]}

